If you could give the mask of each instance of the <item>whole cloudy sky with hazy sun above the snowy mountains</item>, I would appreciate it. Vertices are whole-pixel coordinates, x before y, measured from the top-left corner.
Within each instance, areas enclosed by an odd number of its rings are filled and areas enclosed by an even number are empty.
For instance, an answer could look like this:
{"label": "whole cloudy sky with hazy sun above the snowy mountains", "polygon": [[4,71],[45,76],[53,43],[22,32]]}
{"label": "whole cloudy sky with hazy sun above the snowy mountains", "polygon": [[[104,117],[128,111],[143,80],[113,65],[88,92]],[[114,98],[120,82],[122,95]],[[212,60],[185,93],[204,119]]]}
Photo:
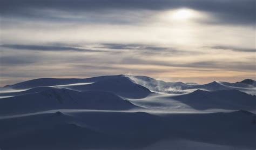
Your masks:
{"label": "whole cloudy sky with hazy sun above the snowy mountains", "polygon": [[144,75],[256,79],[255,0],[1,0],[0,86]]}

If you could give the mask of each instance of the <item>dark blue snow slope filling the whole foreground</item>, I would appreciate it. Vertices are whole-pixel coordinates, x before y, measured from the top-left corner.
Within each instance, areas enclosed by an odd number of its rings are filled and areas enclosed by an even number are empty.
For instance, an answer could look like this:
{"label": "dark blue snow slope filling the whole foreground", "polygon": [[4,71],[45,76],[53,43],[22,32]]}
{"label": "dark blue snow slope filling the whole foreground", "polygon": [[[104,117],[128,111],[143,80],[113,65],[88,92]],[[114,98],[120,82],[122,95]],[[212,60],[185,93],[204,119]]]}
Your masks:
{"label": "dark blue snow slope filling the whole foreground", "polygon": [[[3,149],[142,149],[167,140],[171,142],[154,145],[154,149],[164,146],[170,149],[175,141],[197,143],[196,149],[201,145],[253,149],[256,146],[253,119],[255,114],[247,111],[207,114],[56,111],[0,119],[0,145]],[[180,146],[176,144],[173,149]]]}

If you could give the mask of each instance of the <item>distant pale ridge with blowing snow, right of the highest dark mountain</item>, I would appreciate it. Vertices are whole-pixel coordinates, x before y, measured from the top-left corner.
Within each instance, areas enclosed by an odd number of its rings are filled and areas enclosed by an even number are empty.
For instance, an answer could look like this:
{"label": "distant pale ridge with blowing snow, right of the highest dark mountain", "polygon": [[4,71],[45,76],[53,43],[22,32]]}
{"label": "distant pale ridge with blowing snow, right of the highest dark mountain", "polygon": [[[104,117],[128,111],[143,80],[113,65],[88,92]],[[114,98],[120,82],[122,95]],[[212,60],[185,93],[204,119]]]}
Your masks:
{"label": "distant pale ridge with blowing snow, right of the highest dark mountain", "polygon": [[228,83],[224,81],[213,81],[208,84],[197,84],[197,83],[183,83],[183,82],[165,82],[162,80],[156,80],[146,76],[131,76],[126,75],[131,78],[135,83],[149,88],[151,91],[155,92],[165,92],[173,94],[188,93],[191,90],[207,90],[207,91],[218,91],[218,90],[239,90],[248,94],[256,95],[256,81],[252,79],[245,79],[237,83]]}

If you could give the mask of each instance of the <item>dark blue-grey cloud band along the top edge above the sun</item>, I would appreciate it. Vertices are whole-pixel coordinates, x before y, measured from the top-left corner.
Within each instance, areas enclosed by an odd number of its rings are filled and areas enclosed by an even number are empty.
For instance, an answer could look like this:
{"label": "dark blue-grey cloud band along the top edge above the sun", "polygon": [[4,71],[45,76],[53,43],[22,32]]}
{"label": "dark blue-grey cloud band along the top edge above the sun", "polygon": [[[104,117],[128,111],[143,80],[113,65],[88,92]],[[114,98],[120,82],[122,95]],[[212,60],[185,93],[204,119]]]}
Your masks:
{"label": "dark blue-grey cloud band along the top edge above the sun", "polygon": [[[215,18],[210,21],[212,23],[255,24],[254,0],[2,0],[0,13],[2,16],[57,19],[63,17],[61,14],[56,16],[57,11],[76,16],[86,14],[85,12],[105,15],[116,10],[164,11],[179,8],[190,8],[210,13]],[[77,20],[79,19],[81,18]],[[118,18],[114,17],[111,19],[111,21],[117,20]],[[108,21],[105,20],[105,22]]]}

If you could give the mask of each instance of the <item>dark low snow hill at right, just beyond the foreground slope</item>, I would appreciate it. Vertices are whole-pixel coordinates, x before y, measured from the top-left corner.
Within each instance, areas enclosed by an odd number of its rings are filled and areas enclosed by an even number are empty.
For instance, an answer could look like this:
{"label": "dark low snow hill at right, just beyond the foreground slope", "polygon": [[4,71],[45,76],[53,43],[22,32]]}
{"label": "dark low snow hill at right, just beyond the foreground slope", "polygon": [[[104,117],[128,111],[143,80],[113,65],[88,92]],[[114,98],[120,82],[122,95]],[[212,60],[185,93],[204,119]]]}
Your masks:
{"label": "dark low snow hill at right, just beyond the foreground slope", "polygon": [[256,96],[238,90],[203,91],[174,96],[172,99],[197,110],[220,108],[225,110],[256,110]]}

